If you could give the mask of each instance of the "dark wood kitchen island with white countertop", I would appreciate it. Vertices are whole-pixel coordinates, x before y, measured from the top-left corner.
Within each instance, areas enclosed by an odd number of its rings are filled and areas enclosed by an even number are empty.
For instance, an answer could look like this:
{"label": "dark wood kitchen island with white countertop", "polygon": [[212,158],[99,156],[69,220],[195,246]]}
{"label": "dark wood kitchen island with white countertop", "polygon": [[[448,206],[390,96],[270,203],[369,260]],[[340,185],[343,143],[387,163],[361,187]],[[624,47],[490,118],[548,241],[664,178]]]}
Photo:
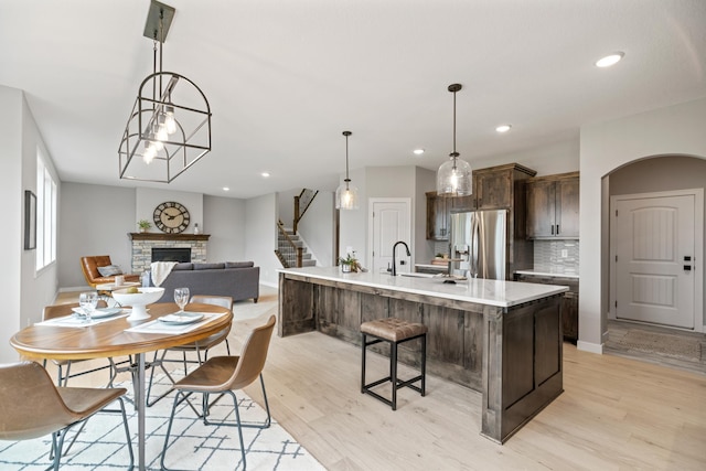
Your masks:
{"label": "dark wood kitchen island with white countertop", "polygon": [[[443,281],[338,267],[282,269],[278,334],[319,331],[360,345],[362,322],[421,322],[429,329],[427,371],[482,393],[481,435],[502,443],[563,392],[560,301],[568,288]],[[400,362],[418,366],[416,342],[400,346]]]}

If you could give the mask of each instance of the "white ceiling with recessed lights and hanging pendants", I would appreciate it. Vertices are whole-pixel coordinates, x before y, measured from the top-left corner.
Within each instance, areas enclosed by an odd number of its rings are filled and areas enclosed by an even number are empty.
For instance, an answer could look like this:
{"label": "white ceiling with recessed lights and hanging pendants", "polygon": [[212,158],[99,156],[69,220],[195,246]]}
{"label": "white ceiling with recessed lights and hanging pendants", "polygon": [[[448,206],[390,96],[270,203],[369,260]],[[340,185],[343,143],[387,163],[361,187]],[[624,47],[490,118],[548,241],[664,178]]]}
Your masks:
{"label": "white ceiling with recessed lights and hanging pendants", "polygon": [[[333,190],[343,130],[352,170],[436,170],[452,150],[452,83],[463,85],[457,150],[471,165],[706,96],[704,0],[164,3],[176,13],[163,68],[206,95],[213,150],[169,185],[137,185],[232,197]],[[118,179],[117,151],[152,68],[148,9],[0,0],[0,85],[25,92],[62,181],[136,185]],[[618,65],[593,65],[614,51],[625,53]],[[501,124],[511,131],[495,132]]]}

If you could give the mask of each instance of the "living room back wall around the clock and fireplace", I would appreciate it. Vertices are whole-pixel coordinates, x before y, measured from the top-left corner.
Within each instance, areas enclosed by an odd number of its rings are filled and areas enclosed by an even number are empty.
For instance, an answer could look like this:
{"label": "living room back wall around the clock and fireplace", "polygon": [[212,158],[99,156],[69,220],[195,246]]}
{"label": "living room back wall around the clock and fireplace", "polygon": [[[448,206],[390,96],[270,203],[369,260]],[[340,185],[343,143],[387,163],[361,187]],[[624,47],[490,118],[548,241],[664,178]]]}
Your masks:
{"label": "living room back wall around the clock and fireplace", "polygon": [[[137,231],[138,220],[151,221],[156,205],[163,201],[183,203],[192,221],[200,221],[200,227],[211,235],[208,261],[245,259],[243,200],[66,182],[60,202],[60,289],[86,287],[79,264],[85,255],[109,255],[124,271],[130,271],[132,245],[128,233]],[[154,227],[150,231],[159,232]],[[186,231],[193,231],[193,223]]]}

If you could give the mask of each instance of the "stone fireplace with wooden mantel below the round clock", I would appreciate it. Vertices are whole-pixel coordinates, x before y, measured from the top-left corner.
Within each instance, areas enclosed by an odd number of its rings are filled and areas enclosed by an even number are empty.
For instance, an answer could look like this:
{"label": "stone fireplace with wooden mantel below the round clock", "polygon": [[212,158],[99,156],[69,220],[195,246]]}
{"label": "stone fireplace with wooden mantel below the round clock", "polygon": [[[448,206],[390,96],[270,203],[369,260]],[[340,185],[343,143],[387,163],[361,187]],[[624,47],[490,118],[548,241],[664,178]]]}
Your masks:
{"label": "stone fireplace with wooden mantel below the round clock", "polygon": [[[156,234],[156,233],[130,233],[132,240],[132,272],[141,274],[150,268],[150,264],[156,258],[152,255],[153,248],[191,250],[191,261],[194,264],[206,263],[206,243],[208,234]],[[169,253],[171,250],[158,250]],[[175,250],[184,251],[184,250]],[[160,258],[158,255],[157,258]],[[174,257],[168,257],[174,258]],[[161,257],[164,259],[164,257]],[[178,258],[181,260],[183,258]]]}

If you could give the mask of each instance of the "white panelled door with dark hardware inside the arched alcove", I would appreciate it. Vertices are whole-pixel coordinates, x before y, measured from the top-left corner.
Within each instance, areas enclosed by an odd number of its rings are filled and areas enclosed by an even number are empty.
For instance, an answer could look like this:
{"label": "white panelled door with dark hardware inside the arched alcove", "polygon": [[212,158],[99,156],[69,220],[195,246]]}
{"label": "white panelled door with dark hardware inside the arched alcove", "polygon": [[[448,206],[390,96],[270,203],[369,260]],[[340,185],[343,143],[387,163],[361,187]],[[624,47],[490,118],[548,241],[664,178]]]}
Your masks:
{"label": "white panelled door with dark hardware inside the arched alcove", "polygon": [[616,318],[694,329],[695,195],[613,196],[611,206]]}

